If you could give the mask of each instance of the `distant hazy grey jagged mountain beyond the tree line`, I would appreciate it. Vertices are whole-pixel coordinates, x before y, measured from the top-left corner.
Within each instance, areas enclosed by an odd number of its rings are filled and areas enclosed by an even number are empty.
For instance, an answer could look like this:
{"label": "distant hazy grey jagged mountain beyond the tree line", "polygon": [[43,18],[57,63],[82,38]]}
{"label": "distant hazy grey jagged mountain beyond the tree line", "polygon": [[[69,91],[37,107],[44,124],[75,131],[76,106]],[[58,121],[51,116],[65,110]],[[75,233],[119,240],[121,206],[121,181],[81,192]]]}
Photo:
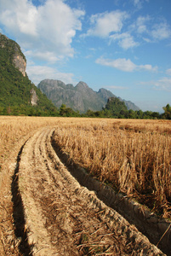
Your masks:
{"label": "distant hazy grey jagged mountain beyond the tree line", "polygon": [[[72,84],[65,84],[60,80],[44,79],[37,88],[54,102],[54,105],[60,108],[61,104],[66,104],[80,113],[85,113],[88,109],[92,111],[100,111],[110,97],[117,97],[110,90],[101,88],[98,92],[88,87],[88,84],[79,82],[75,87]],[[120,99],[121,100],[121,99]],[[125,102],[128,109],[139,110],[133,102]]]}

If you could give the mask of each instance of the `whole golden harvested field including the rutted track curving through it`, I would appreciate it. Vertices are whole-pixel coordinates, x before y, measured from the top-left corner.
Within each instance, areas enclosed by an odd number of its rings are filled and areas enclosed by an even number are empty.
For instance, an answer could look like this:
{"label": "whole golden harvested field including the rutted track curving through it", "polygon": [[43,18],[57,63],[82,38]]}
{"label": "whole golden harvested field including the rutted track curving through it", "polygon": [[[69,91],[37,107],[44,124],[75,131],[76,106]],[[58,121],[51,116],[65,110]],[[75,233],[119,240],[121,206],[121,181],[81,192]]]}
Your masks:
{"label": "whole golden harvested field including the rutted track curving through it", "polygon": [[[0,145],[1,255],[162,255],[152,243],[170,251],[171,121],[1,116]],[[74,165],[167,225],[159,221],[149,243],[80,186]]]}

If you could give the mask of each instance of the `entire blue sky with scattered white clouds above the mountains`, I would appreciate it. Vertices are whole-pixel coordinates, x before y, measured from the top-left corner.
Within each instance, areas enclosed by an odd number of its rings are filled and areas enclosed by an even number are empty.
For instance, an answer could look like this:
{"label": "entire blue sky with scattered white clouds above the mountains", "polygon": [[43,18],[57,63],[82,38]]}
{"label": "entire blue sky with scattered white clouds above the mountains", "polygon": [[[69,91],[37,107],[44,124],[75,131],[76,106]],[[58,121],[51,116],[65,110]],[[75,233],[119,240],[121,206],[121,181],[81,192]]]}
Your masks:
{"label": "entire blue sky with scattered white clouds above the mountains", "polygon": [[170,0],[0,0],[0,32],[34,84],[111,90],[143,111],[171,105]]}

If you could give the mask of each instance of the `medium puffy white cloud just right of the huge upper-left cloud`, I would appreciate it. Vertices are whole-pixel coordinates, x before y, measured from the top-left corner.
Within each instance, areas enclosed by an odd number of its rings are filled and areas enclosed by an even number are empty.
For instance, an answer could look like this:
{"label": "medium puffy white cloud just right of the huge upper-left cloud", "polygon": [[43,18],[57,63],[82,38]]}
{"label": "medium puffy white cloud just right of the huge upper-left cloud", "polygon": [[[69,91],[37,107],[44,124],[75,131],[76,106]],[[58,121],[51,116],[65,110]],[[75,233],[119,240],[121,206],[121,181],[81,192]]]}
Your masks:
{"label": "medium puffy white cloud just right of the huge upper-left cloud", "polygon": [[92,15],[90,18],[92,27],[84,36],[109,37],[110,33],[121,31],[123,21],[127,18],[128,14],[119,10]]}

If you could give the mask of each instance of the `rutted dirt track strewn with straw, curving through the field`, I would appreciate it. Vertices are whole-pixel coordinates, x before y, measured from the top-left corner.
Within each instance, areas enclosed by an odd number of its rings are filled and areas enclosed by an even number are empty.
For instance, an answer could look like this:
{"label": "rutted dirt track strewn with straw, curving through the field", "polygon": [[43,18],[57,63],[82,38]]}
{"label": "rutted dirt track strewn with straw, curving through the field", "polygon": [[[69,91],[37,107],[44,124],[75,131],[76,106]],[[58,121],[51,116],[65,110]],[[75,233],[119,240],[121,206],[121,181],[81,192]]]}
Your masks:
{"label": "rutted dirt track strewn with straw, curving through the field", "polygon": [[[13,178],[16,235],[24,255],[164,255],[134,225],[81,186],[37,131]],[[17,207],[19,206],[20,207]],[[19,216],[23,219],[19,219]]]}

